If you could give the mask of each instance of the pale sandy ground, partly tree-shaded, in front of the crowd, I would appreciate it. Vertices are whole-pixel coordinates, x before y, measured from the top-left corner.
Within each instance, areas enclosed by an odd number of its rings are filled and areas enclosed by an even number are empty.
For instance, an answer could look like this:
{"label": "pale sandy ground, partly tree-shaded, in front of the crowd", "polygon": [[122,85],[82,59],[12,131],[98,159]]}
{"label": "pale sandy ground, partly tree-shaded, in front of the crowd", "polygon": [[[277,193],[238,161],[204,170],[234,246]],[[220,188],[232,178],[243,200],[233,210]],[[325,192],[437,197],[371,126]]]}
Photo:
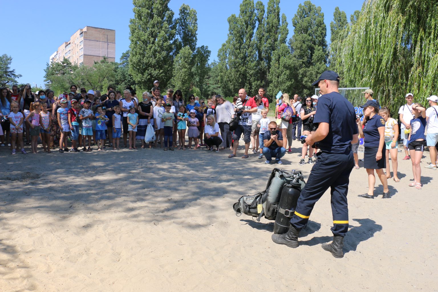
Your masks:
{"label": "pale sandy ground, partly tree-shaded, in front of the crowd", "polygon": [[[312,165],[297,165],[293,146],[281,168],[307,178]],[[422,166],[415,190],[399,153],[392,198],[370,200],[357,197],[365,170],[353,169],[345,257],[336,259],[321,249],[332,240],[329,192],[297,249],[272,242],[272,221],[234,214],[278,166],[242,152],[1,148],[0,291],[437,291],[438,172]]]}

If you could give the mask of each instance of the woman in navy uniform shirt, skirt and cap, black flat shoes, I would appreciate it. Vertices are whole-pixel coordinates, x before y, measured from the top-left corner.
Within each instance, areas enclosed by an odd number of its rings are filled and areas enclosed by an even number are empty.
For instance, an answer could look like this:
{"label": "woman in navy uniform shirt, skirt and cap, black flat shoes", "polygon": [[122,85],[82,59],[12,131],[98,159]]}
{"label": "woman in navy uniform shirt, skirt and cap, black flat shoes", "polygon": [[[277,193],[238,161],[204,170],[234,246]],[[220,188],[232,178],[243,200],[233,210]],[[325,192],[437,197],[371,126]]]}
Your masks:
{"label": "woman in navy uniform shirt, skirt and cap, black flat shoes", "polygon": [[[374,100],[368,100],[363,106],[365,126],[362,130],[360,120],[357,121],[359,134],[364,138],[364,168],[368,174],[368,193],[359,195],[367,199],[374,199],[374,184],[376,177],[374,169],[383,185],[383,199],[389,198],[388,178],[383,169],[386,168],[385,147],[385,120],[379,116],[379,106]],[[377,197],[377,196],[376,196]]]}

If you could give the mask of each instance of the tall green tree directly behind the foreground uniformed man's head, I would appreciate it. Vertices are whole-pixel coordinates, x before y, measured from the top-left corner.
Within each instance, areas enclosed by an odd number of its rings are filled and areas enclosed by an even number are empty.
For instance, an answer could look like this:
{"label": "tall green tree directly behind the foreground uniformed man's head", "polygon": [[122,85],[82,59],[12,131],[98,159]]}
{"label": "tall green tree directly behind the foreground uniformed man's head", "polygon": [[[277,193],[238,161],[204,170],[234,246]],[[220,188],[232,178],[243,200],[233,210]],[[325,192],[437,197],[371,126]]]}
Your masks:
{"label": "tall green tree directly behind the foreground uniformed man's head", "polygon": [[292,57],[297,63],[296,81],[293,90],[299,95],[314,92],[311,84],[327,69],[327,28],[321,7],[310,1],[298,5],[292,18],[294,34],[289,41]]}

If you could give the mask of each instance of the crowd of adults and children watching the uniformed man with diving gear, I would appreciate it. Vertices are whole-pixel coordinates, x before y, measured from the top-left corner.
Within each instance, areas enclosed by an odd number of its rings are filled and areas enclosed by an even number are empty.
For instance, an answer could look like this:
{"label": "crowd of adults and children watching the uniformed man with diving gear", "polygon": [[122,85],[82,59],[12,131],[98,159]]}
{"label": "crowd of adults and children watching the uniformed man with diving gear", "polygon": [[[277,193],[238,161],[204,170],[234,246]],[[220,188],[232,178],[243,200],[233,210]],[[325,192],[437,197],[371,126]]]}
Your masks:
{"label": "crowd of adults and children watching the uniformed man with diving gear", "polygon": [[[364,138],[364,168],[367,169],[369,191],[361,196],[374,197],[375,173],[380,179],[384,197],[389,197],[387,179],[399,182],[397,140],[402,137],[406,156],[413,165],[413,182],[410,186],[421,189],[420,160],[424,147],[430,151],[428,169],[436,169],[438,140],[438,98],[429,97],[426,109],[413,102],[413,95],[406,95],[406,104],[399,109],[399,124],[389,109],[381,107],[373,98],[373,91],[363,92],[366,103],[362,106],[364,117],[357,116],[360,137]],[[123,97],[122,97],[123,94]],[[293,98],[279,93],[276,98],[274,120],[268,118],[269,101],[265,88],[259,88],[254,97],[244,88],[233,102],[221,95],[200,99],[190,95],[187,102],[180,90],[168,89],[161,95],[159,81],[150,92],[142,93],[139,101],[136,92],[128,87],[123,92],[109,86],[107,92],[86,90],[71,85],[70,92],[55,96],[51,90],[33,93],[30,84],[21,88],[0,88],[1,146],[11,147],[11,154],[26,154],[25,144],[32,153],[38,153],[41,140],[44,152],[59,148],[59,152],[105,151],[123,147],[137,149],[162,148],[164,151],[198,149],[219,152],[230,149],[229,158],[237,157],[239,140],[243,138],[244,154],[249,158],[252,149],[258,158],[272,159],[283,164],[281,158],[292,152],[292,142],[315,133],[318,123],[313,123],[318,107],[318,96],[298,95]],[[230,130],[230,122],[237,116],[238,125]],[[272,115],[271,115],[272,116]],[[148,126],[155,131],[155,141],[145,142]],[[424,136],[427,126],[427,136]],[[188,138],[188,144],[187,139]],[[128,139],[129,137],[129,139]],[[303,141],[304,142],[304,141]],[[68,147],[70,144],[70,148]],[[301,148],[299,165],[314,164],[318,145],[298,144]],[[97,146],[97,149],[94,148]],[[93,148],[92,148],[93,147]],[[357,150],[359,142],[352,144],[354,168],[359,169]],[[305,158],[308,158],[307,162]],[[392,172],[390,172],[391,158]]]}

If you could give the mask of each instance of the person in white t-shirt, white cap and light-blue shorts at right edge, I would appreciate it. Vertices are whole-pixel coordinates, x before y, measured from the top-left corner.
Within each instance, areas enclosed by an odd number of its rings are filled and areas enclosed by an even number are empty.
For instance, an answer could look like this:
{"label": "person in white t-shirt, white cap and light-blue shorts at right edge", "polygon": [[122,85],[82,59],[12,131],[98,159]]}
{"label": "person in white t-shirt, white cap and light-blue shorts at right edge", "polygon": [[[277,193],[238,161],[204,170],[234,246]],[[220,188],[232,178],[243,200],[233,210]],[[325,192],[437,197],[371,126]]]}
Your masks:
{"label": "person in white t-shirt, white cap and light-blue shorts at right edge", "polygon": [[431,164],[424,166],[428,169],[437,169],[438,153],[436,145],[438,143],[438,96],[432,95],[427,98],[430,108],[426,109],[426,121],[427,121],[427,136],[426,145],[429,148],[431,155]]}

